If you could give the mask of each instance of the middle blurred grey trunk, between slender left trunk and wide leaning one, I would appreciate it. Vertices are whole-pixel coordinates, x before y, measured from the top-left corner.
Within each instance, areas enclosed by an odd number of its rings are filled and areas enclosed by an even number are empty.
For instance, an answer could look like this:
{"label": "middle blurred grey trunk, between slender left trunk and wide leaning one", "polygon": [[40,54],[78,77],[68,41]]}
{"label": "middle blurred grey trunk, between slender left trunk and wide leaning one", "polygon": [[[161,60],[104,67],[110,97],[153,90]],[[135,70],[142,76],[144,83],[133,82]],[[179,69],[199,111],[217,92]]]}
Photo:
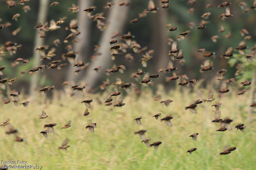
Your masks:
{"label": "middle blurred grey trunk, between slender left trunk and wide leaning one", "polygon": [[[83,10],[91,6],[92,1],[79,0],[80,10],[78,12],[78,25],[81,34],[77,37],[80,39],[80,41],[75,45],[75,51],[78,51],[78,56],[82,58],[83,62],[86,61],[86,54],[88,54],[88,46],[90,41],[90,27],[92,23],[89,17],[86,15],[86,13],[83,12]],[[69,66],[67,80],[75,81],[76,79],[78,79],[78,76],[74,76],[74,71],[76,69],[77,68],[72,67],[72,65]]]}

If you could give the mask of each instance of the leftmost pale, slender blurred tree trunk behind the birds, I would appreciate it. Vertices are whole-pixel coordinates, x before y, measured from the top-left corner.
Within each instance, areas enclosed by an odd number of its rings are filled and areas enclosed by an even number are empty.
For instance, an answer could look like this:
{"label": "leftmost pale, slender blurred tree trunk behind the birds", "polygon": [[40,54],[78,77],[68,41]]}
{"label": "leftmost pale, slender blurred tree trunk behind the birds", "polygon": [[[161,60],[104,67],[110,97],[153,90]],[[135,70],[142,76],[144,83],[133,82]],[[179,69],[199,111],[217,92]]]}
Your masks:
{"label": "leftmost pale, slender blurred tree trunk behind the birds", "polygon": [[[37,23],[41,22],[44,24],[46,22],[47,18],[47,13],[48,13],[48,5],[49,5],[49,0],[40,0],[39,1],[39,7],[38,7],[38,16],[37,16]],[[35,51],[36,47],[40,47],[44,45],[44,38],[39,38],[39,35],[36,33],[35,35],[35,46],[33,48],[33,63],[34,67],[40,66],[40,54],[38,51]],[[38,76],[39,72],[35,75],[32,75],[31,82],[30,82],[30,95],[33,96],[35,89],[38,84]]]}

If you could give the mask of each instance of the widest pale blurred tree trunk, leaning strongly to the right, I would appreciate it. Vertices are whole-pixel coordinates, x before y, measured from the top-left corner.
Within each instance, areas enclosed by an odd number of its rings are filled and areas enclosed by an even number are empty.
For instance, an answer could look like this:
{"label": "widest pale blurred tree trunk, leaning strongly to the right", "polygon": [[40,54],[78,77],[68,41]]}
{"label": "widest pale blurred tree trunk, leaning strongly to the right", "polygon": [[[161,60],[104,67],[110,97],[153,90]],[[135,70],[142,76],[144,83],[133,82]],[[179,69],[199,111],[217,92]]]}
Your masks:
{"label": "widest pale blurred tree trunk, leaning strongly to the right", "polygon": [[[109,52],[110,45],[108,43],[111,40],[110,37],[116,31],[122,31],[123,26],[125,25],[129,6],[120,7],[118,6],[118,2],[119,1],[116,0],[116,4],[109,9],[110,14],[107,17],[108,20],[106,23],[109,22],[110,24],[108,25],[108,28],[105,29],[102,33],[102,37],[100,39],[100,42],[98,43],[100,45],[100,48],[97,52],[101,52],[102,55],[97,56],[97,60],[89,65],[89,67],[86,69],[85,75],[83,76],[83,81],[89,83],[91,87],[94,87],[96,85],[96,82],[99,80],[100,75],[104,75],[105,69],[107,69],[112,62]],[[101,66],[101,69],[98,73],[92,71],[97,66]]]}

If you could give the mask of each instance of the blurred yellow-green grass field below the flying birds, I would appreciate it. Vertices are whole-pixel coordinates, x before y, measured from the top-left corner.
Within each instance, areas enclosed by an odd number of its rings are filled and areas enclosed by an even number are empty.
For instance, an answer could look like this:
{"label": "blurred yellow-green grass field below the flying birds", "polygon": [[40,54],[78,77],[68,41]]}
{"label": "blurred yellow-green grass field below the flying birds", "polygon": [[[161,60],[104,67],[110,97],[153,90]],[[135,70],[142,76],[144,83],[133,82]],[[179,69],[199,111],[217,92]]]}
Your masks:
{"label": "blurred yellow-green grass field below the flying birds", "polygon": [[[7,126],[0,128],[1,133],[1,160],[23,160],[28,164],[43,165],[42,169],[255,169],[256,167],[256,129],[255,115],[251,115],[251,123],[246,122],[248,112],[249,92],[237,96],[237,92],[229,92],[215,99],[212,103],[203,102],[198,105],[198,114],[185,111],[184,107],[198,98],[208,96],[207,90],[201,90],[199,97],[196,92],[176,90],[169,93],[158,90],[161,99],[173,99],[169,107],[154,101],[152,92],[145,88],[141,97],[130,94],[124,97],[126,103],[122,108],[98,104],[98,97],[104,102],[102,96],[86,94],[84,97],[65,97],[61,99],[54,95],[53,101],[45,103],[44,97],[30,100],[28,108],[13,103],[1,105],[1,122],[7,118],[11,124],[19,129],[20,137],[24,142],[14,141],[14,135],[6,135]],[[22,101],[22,95],[21,101]],[[113,103],[118,97],[114,97]],[[83,116],[86,109],[84,99],[94,99],[90,114]],[[24,99],[25,100],[25,99]],[[29,99],[28,99],[29,100]],[[232,130],[219,132],[217,123],[213,120],[213,103],[223,103],[220,111],[221,118],[232,118]],[[46,119],[38,120],[42,110],[49,115]],[[168,127],[152,116],[162,113],[174,117],[171,121],[173,127]],[[133,121],[142,116],[142,125]],[[71,120],[71,127],[61,127]],[[246,125],[245,133],[234,129],[238,123]],[[55,134],[49,133],[44,138],[40,131],[43,125],[57,123]],[[97,123],[95,133],[91,133],[85,126]],[[146,137],[154,141],[162,141],[157,150],[147,148],[141,143],[139,135],[134,131],[147,129]],[[199,133],[197,141],[189,135]],[[70,147],[67,151],[58,150],[64,139],[69,139]],[[236,150],[228,155],[219,155],[225,145],[235,146]],[[197,150],[193,154],[186,153],[190,148]]]}

